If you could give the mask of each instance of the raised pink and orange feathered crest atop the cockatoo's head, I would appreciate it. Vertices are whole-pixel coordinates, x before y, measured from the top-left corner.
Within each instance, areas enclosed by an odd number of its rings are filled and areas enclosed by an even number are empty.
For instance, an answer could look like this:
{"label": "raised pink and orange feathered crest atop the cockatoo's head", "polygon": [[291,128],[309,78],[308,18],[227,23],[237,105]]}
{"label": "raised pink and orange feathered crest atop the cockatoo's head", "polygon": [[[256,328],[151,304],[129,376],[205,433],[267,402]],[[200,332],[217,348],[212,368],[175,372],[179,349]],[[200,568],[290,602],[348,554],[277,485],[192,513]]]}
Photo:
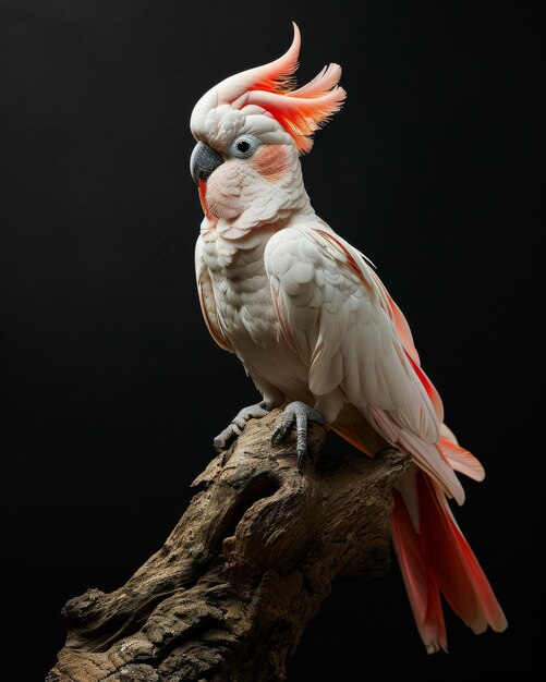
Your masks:
{"label": "raised pink and orange feathered crest atop the cockatoo's head", "polygon": [[339,111],[345,90],[338,86],[341,66],[325,66],[310,83],[295,87],[301,36],[293,23],[294,38],[288,51],[279,59],[243,71],[219,83],[196,105],[194,113],[205,113],[211,107],[230,105],[244,110],[247,106],[262,107],[293,137],[304,154],[313,146],[311,135]]}

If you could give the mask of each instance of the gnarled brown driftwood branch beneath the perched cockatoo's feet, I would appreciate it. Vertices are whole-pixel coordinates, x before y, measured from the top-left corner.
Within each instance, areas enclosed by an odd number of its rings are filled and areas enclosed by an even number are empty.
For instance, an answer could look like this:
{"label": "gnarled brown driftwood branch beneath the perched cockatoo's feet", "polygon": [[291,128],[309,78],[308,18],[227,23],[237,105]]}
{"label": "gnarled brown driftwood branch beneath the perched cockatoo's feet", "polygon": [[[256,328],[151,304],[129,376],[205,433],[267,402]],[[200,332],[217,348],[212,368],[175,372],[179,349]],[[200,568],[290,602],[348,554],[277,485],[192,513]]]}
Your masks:
{"label": "gnarled brown driftwood branch beneath the perched cockatoo's feet", "polygon": [[[388,569],[391,487],[408,458],[391,449],[299,471],[293,441],[270,442],[277,416],[248,422],[210,462],[163,547],[123,587],[66,604],[47,682],[283,680],[333,579]],[[324,439],[311,425],[310,450]]]}

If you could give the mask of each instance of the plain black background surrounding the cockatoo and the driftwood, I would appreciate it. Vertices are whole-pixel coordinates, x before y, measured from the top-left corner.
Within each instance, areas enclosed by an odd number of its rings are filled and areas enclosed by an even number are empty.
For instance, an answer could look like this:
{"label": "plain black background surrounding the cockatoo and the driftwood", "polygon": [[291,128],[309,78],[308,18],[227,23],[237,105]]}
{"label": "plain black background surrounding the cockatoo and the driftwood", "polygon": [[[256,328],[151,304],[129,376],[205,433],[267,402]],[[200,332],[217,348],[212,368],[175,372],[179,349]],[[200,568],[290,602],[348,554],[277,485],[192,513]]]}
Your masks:
{"label": "plain black background surrounding the cockatoo and the driftwood", "polygon": [[213,84],[284,51],[291,20],[300,82],[338,61],[349,94],[303,159],[307,191],[377,265],[487,470],[458,519],[510,628],[475,637],[448,614],[450,654],[427,657],[393,565],[335,586],[289,681],[526,678],[544,536],[539,5],[0,1],[4,679],[45,677],[63,604],[160,547],[213,436],[256,399],[202,321],[187,124]]}

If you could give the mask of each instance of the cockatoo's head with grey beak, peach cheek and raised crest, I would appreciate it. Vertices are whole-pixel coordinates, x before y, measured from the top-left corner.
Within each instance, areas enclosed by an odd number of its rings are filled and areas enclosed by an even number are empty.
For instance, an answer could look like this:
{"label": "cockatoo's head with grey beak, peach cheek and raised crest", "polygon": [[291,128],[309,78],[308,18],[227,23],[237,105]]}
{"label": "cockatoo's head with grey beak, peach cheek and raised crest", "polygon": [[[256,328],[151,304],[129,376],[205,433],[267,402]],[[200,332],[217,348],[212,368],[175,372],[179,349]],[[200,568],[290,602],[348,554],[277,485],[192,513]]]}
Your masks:
{"label": "cockatoo's head with grey beak, peach cheek and raised crest", "polygon": [[192,112],[197,144],[191,172],[204,224],[231,239],[308,206],[299,157],[345,97],[338,64],[295,88],[300,31],[293,26],[292,45],[282,57],[226,78]]}

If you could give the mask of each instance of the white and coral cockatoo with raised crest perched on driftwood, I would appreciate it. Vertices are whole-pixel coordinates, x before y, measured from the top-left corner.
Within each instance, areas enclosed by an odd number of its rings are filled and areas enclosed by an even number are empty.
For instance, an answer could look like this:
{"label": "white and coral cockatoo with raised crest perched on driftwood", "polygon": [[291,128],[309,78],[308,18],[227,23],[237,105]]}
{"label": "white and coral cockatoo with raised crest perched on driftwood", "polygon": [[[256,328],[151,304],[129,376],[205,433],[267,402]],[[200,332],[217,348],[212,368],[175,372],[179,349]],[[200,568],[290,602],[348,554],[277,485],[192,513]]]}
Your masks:
{"label": "white and coral cockatoo with raised crest perched on driftwood", "polygon": [[311,206],[300,155],[345,92],[335,63],[295,87],[293,28],[282,57],[226,78],[191,115],[191,172],[205,214],[195,249],[203,315],[263,398],[215,446],[283,406],[274,438],[295,424],[298,464],[310,419],[368,455],[389,446],[410,453],[393,491],[392,540],[426,650],[447,650],[440,593],[475,633],[507,626],[448,503],[464,501],[457,473],[485,474],[442,423],[408,322],[371,261]]}

